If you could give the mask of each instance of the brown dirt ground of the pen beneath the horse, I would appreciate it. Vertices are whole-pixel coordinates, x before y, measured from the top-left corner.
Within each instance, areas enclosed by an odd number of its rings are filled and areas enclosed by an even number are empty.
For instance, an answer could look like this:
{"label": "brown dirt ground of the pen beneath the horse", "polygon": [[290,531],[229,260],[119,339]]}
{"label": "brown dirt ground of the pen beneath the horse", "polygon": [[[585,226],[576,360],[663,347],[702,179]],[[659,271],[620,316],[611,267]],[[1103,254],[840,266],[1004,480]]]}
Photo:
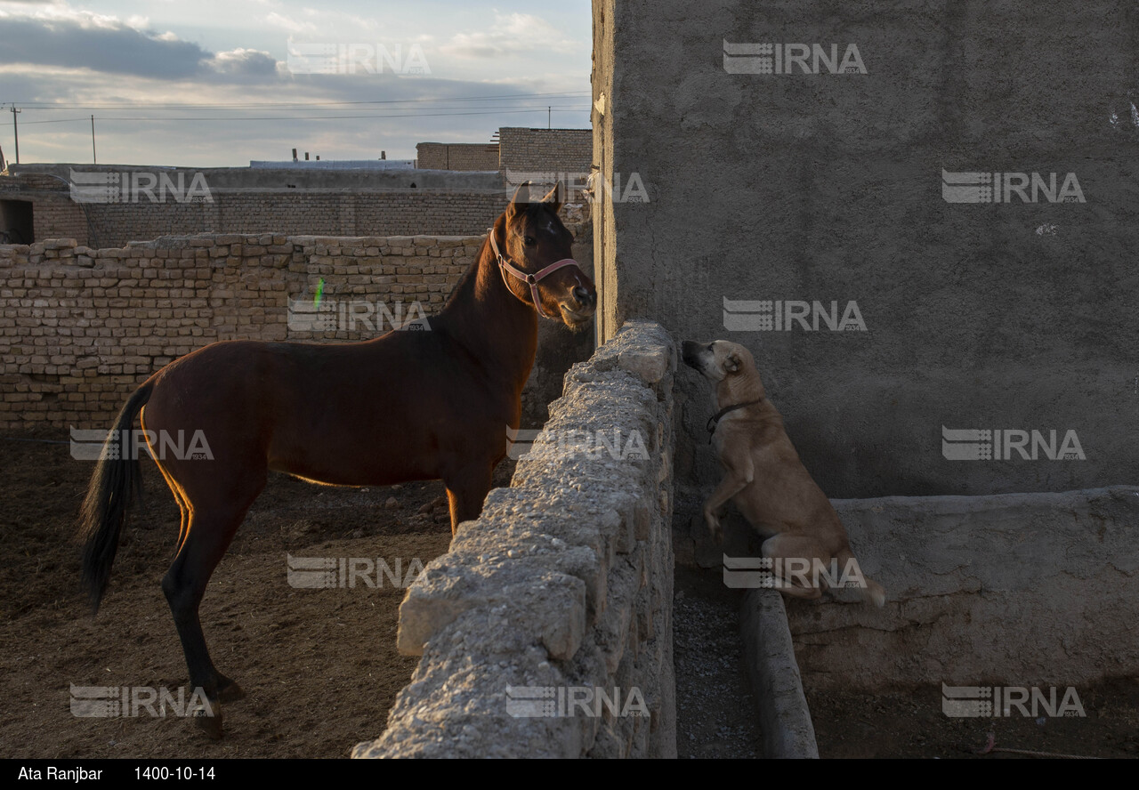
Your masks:
{"label": "brown dirt ground of the pen beneath the horse", "polygon": [[[395,651],[403,590],[387,577],[376,589],[294,589],[286,553],[383,559],[393,569],[399,558],[409,581],[412,560],[426,565],[450,544],[445,507],[418,512],[443,494],[441,483],[367,489],[270,478],[202,604],[214,664],[248,694],[226,706],[226,736],[214,743],[175,716],[71,714],[71,684],[165,686],[177,698],[188,683],[159,589],[178,509],[157,469],[142,461],[146,496],[91,618],[74,525],[93,463],[72,459],[66,443],[3,441],[0,450],[0,757],[345,757],[383,731],[418,663]],[[499,466],[497,485],[511,467]]]}

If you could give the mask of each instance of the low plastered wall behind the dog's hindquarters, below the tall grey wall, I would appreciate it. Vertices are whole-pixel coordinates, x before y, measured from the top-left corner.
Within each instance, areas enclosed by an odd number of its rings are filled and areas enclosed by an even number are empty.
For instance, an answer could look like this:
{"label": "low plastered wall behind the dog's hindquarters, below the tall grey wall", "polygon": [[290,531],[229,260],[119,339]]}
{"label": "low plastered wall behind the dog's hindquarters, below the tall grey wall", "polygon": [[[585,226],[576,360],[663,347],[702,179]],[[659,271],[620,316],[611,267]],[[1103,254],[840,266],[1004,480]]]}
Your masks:
{"label": "low plastered wall behind the dog's hindquarters, below the tall grey wall", "polygon": [[[861,571],[886,587],[785,600],[803,684],[1067,686],[1139,674],[1139,487],[833,500]],[[738,517],[723,546],[757,557]]]}

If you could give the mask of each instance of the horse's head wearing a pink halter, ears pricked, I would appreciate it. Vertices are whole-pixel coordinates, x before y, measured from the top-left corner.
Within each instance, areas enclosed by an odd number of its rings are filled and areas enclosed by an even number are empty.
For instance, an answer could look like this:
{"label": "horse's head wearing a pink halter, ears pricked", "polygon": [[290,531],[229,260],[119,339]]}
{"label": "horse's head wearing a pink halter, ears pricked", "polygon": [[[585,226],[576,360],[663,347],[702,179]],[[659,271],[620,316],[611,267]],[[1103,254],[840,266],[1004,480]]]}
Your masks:
{"label": "horse's head wearing a pink halter, ears pricked", "polygon": [[558,188],[536,203],[528,194],[528,184],[518,187],[491,231],[499,271],[506,287],[539,315],[584,329],[597,310],[597,289],[573,260],[573,233],[558,217]]}

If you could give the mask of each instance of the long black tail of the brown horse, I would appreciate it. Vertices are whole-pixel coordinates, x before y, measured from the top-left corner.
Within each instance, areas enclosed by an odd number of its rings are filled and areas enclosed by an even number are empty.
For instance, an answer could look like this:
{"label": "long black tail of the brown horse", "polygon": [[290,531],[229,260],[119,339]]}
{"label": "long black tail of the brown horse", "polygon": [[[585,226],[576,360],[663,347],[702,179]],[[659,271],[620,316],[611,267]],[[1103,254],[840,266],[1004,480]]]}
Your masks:
{"label": "long black tail of the brown horse", "polygon": [[[118,412],[83,500],[80,515],[80,537],[84,538],[83,589],[91,601],[92,614],[99,610],[99,601],[107,590],[126,509],[134,496],[142,493],[139,462],[132,458],[134,442],[131,429],[134,418],[150,400],[153,389],[153,384],[144,384]],[[113,452],[113,447],[117,447],[118,452]]]}

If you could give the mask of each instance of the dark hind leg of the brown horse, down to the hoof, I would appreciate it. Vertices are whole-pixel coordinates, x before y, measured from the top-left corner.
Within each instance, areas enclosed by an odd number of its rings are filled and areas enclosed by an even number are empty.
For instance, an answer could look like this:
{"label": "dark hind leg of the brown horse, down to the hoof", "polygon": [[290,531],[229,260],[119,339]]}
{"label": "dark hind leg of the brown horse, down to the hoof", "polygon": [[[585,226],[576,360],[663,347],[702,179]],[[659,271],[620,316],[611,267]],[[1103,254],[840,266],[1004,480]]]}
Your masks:
{"label": "dark hind leg of the brown horse, down to the hoof", "polygon": [[221,738],[221,702],[241,699],[241,688],[218,672],[210,659],[198,607],[205,595],[206,584],[218,562],[226,554],[233,534],[245,518],[253,500],[264,487],[264,480],[256,491],[243,496],[241,501],[227,505],[202,507],[189,504],[189,522],[183,525],[182,544],[162,579],[174,626],[186,653],[186,666],[190,673],[190,685],[200,688],[210,701],[211,710],[197,718],[197,723],[212,738]]}

